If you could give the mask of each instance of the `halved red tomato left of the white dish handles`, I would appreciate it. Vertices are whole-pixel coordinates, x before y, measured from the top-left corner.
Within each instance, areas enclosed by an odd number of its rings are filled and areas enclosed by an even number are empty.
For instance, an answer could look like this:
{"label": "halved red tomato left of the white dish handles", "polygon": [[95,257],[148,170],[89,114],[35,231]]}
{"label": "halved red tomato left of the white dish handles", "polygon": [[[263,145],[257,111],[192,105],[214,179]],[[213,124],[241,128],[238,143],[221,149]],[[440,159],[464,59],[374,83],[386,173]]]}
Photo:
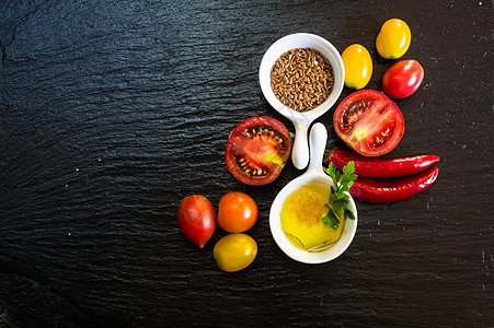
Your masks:
{"label": "halved red tomato left of the white dish handles", "polygon": [[266,185],[282,173],[290,156],[291,143],[290,132],[279,120],[254,116],[231,131],[225,161],[240,181]]}

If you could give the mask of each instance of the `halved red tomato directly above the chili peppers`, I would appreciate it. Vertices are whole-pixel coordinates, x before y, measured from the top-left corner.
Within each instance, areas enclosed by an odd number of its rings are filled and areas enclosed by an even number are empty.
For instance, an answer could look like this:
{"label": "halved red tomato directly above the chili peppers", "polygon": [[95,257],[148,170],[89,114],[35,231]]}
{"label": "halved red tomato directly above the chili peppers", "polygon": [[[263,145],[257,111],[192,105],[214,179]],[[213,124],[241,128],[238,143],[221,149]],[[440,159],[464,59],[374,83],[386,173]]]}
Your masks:
{"label": "halved red tomato directly above the chili peppers", "polygon": [[404,132],[403,114],[382,92],[361,90],[334,112],[334,129],[357,153],[375,157],[393,150]]}

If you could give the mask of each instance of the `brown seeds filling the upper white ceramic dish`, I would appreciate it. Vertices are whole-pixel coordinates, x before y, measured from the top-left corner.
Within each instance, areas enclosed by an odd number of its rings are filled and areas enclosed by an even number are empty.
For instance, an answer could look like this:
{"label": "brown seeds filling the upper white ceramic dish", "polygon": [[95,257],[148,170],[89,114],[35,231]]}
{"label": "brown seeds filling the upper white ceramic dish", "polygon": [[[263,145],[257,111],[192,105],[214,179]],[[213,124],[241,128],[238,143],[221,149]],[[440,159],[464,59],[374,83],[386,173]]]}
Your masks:
{"label": "brown seeds filling the upper white ceramic dish", "polygon": [[296,48],[283,54],[271,70],[276,97],[297,112],[311,110],[330,96],[333,69],[318,50]]}

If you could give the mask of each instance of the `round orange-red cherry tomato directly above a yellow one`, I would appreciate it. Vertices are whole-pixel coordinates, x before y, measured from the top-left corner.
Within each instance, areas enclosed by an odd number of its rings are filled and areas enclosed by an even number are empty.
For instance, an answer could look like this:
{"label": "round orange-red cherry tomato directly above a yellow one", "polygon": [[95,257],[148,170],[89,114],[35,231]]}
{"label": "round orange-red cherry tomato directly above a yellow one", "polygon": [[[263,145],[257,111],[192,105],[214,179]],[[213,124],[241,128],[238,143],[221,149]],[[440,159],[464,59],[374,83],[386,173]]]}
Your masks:
{"label": "round orange-red cherry tomato directly above a yellow one", "polygon": [[243,192],[228,192],[219,200],[218,224],[230,233],[250,230],[257,222],[255,201]]}

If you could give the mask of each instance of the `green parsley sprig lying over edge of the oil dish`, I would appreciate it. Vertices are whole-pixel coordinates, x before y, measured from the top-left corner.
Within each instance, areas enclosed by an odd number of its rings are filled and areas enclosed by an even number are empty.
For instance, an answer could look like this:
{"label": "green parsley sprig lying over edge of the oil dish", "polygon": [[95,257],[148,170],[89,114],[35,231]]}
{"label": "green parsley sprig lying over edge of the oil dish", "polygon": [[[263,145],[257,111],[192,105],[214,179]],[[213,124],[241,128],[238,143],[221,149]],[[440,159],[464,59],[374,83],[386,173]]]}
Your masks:
{"label": "green parsley sprig lying over edge of the oil dish", "polygon": [[333,179],[334,186],[331,186],[331,196],[326,203],[328,213],[322,218],[322,221],[324,224],[330,224],[332,229],[336,229],[341,219],[355,220],[354,213],[347,209],[349,197],[346,194],[357,178],[357,175],[354,173],[355,164],[353,161],[348,162],[341,173],[333,163],[330,163],[330,166],[324,171]]}

